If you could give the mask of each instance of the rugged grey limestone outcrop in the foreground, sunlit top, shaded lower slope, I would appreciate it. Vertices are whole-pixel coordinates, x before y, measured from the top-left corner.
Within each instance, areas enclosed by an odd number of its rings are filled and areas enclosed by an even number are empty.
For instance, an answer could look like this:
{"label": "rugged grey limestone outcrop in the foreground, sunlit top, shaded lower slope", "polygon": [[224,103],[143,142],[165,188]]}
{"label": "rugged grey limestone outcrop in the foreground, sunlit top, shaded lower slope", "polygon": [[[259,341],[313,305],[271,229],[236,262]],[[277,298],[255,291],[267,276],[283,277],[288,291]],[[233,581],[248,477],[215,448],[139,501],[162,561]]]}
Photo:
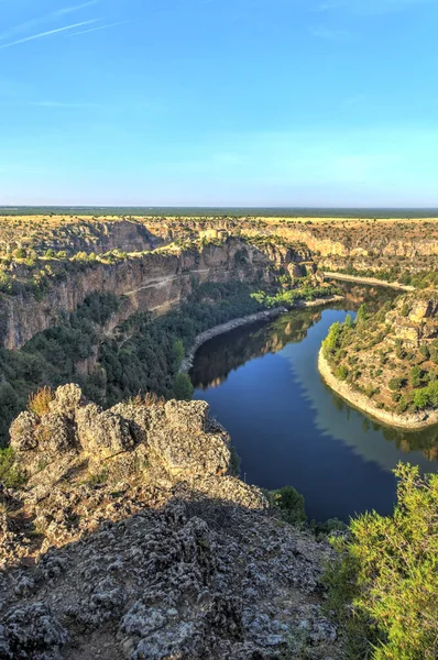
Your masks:
{"label": "rugged grey limestone outcrop in the foreground, sunlit top, shaded lower slope", "polygon": [[202,402],[103,411],[74,385],[11,427],[0,492],[0,658],[335,660],[326,542],[231,475]]}

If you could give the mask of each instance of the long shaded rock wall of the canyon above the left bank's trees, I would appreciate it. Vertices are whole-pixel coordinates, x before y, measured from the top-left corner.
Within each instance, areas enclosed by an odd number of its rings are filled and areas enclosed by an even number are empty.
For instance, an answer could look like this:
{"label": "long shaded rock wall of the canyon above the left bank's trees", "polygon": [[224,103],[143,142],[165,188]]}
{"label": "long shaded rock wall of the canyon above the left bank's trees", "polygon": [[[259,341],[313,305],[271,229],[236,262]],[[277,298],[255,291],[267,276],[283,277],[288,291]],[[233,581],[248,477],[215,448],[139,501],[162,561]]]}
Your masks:
{"label": "long shaded rock wall of the canyon above the left bank's trees", "polygon": [[[242,254],[244,258],[237,258]],[[193,283],[223,282],[228,278],[251,280],[260,275],[270,282],[269,265],[294,267],[304,261],[288,251],[264,253],[261,250],[229,239],[220,245],[185,250],[179,254],[151,252],[131,256],[116,264],[95,262],[85,270],[65,274],[54,284],[44,299],[28,296],[0,296],[0,339],[10,349],[19,349],[36,333],[56,324],[91,293],[112,293],[124,296],[117,322],[134,311],[165,311],[185,299]]]}

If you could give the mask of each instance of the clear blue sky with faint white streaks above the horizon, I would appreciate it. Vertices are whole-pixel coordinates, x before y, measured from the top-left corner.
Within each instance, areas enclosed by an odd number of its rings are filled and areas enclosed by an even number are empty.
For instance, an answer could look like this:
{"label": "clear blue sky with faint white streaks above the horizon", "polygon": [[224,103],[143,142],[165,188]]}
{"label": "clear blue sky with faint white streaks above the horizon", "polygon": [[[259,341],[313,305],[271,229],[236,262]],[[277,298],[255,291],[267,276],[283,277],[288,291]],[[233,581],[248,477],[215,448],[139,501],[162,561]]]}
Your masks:
{"label": "clear blue sky with faint white streaks above the horizon", "polygon": [[436,0],[0,0],[0,204],[438,207]]}

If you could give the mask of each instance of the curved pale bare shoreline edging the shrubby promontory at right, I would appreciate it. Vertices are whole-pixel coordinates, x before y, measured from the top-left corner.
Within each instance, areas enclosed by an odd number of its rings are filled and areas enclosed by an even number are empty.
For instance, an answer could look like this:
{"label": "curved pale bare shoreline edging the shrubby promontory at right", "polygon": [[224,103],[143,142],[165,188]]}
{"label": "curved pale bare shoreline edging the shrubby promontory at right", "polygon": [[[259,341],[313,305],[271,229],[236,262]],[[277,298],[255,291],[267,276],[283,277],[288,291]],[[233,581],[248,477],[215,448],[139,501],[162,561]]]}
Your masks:
{"label": "curved pale bare shoreline edging the shrubby promontory at right", "polygon": [[438,424],[438,410],[397,415],[396,413],[377,408],[368,396],[355,392],[348,383],[339,381],[335,376],[322,354],[322,349],[320,349],[318,354],[318,370],[327,385],[348,404],[387,426],[414,431]]}

